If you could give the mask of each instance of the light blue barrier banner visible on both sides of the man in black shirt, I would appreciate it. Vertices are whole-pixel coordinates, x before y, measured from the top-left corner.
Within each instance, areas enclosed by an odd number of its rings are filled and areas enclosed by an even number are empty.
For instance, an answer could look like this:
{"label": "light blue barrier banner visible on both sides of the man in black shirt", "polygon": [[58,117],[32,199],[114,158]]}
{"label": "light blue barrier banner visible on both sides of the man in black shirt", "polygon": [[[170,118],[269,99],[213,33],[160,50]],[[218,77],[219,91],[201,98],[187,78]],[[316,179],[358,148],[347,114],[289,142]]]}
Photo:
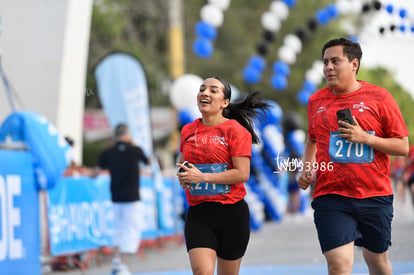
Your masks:
{"label": "light blue barrier banner visible on both sides of the man in black shirt", "polygon": [[[113,208],[110,178],[61,178],[48,191],[49,243],[53,256],[112,246]],[[176,179],[166,178],[162,191],[154,192],[153,179],[141,177],[143,203],[142,239],[156,239],[181,231],[174,186]],[[161,229],[159,227],[161,225]]]}

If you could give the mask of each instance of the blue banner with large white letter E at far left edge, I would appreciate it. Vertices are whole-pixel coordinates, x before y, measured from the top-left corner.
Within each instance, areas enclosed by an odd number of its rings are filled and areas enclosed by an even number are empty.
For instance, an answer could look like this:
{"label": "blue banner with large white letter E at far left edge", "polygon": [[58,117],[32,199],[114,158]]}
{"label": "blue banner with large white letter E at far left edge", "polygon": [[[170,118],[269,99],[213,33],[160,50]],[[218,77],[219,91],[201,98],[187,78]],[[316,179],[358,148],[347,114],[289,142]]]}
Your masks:
{"label": "blue banner with large white letter E at far left edge", "polygon": [[39,200],[32,155],[0,150],[0,270],[40,275]]}

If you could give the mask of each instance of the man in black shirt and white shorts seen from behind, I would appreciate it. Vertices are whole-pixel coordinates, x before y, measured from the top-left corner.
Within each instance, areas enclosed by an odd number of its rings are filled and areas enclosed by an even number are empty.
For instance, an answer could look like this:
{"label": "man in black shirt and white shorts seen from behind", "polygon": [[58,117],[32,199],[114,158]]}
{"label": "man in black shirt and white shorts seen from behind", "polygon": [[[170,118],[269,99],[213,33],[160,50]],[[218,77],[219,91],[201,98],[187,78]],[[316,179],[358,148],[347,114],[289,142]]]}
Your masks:
{"label": "man in black shirt and white shorts seen from behind", "polygon": [[99,156],[99,167],[111,176],[111,199],[114,209],[114,258],[112,274],[130,274],[125,254],[136,253],[141,239],[139,194],[139,162],[149,165],[149,159],[131,138],[128,126],[115,127],[115,144]]}

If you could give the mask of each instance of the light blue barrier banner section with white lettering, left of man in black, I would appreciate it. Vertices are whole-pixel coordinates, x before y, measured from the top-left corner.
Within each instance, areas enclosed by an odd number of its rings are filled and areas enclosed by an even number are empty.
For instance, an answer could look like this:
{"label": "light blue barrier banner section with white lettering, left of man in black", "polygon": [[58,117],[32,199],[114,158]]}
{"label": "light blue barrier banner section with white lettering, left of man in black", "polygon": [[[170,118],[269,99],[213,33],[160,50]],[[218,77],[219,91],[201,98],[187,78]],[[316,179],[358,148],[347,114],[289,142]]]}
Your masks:
{"label": "light blue barrier banner section with white lettering, left of man in black", "polygon": [[112,245],[109,178],[64,177],[48,192],[50,253],[54,256]]}

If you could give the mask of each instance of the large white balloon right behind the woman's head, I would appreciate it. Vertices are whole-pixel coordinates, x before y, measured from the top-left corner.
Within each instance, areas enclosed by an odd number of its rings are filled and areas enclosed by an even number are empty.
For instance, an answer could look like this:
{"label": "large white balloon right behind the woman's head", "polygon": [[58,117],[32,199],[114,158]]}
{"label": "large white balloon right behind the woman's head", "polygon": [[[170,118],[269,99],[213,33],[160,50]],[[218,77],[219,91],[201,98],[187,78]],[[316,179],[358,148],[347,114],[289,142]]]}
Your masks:
{"label": "large white balloon right behind the woman's head", "polygon": [[178,77],[170,88],[171,104],[177,109],[197,105],[197,94],[203,79],[197,75],[185,74]]}

